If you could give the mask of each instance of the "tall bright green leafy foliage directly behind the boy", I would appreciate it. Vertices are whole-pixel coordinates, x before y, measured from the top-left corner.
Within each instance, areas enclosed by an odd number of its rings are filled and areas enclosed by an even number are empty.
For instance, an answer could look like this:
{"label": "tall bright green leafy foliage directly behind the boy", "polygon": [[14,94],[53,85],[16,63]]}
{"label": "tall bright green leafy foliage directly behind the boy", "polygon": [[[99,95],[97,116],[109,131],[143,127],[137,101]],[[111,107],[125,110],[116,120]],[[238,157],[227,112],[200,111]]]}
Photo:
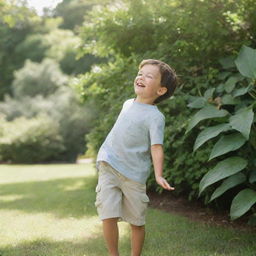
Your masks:
{"label": "tall bright green leafy foliage directly behind the boy", "polygon": [[[192,115],[189,95],[218,85],[221,58],[236,55],[243,44],[255,46],[253,11],[252,1],[186,0],[123,1],[116,8],[92,12],[82,28],[81,51],[107,56],[109,62],[81,77],[78,85],[86,101],[102,102],[97,104],[97,128],[88,135],[90,150],[97,152],[122,102],[134,97],[139,62],[161,59],[182,81],[175,96],[159,105],[166,116],[165,176],[176,193],[196,198],[199,181],[214,162],[207,163],[210,147],[193,153],[197,131],[185,134]],[[155,187],[153,176],[148,183]]]}

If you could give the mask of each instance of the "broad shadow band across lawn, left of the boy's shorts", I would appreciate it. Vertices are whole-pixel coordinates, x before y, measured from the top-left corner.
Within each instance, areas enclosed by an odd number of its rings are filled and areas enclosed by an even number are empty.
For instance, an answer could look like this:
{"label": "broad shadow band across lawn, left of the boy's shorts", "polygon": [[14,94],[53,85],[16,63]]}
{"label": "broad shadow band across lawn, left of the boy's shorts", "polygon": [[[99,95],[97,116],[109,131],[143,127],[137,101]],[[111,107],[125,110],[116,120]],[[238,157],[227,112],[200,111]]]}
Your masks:
{"label": "broad shadow band across lawn, left of the boy's shorts", "polygon": [[59,218],[96,215],[96,178],[65,178],[2,184],[0,209],[53,213]]}

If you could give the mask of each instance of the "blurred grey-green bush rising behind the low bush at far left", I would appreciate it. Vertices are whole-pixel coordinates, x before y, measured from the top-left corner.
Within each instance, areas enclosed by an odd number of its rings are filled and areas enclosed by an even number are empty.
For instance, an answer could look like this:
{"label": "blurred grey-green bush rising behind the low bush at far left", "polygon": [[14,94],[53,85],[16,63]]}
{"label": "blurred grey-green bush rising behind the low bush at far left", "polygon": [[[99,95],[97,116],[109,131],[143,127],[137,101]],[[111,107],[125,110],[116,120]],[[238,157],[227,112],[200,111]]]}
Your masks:
{"label": "blurred grey-green bush rising behind the low bush at far left", "polygon": [[44,113],[58,123],[58,134],[64,148],[61,153],[53,154],[51,160],[74,162],[78,154],[84,153],[85,134],[92,125],[93,109],[80,103],[75,91],[66,85],[68,81],[70,79],[54,60],[28,61],[16,72],[14,97],[5,96],[0,103],[0,113],[9,122],[22,116],[33,119]]}

